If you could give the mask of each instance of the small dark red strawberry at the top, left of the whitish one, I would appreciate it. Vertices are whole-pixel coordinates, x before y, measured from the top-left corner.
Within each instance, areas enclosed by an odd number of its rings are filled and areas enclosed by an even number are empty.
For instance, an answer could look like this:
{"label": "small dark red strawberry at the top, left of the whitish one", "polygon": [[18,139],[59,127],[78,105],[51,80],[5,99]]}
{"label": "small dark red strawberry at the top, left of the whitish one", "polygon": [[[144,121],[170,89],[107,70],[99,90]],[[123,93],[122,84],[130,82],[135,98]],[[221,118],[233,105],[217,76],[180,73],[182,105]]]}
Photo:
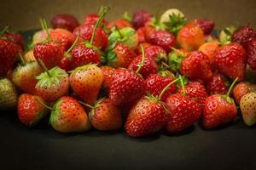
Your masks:
{"label": "small dark red strawberry at the top, left of the whitish one", "polygon": [[143,27],[148,20],[151,20],[151,14],[148,13],[148,11],[137,10],[137,12],[133,14],[132,25],[135,27],[135,29],[138,29]]}

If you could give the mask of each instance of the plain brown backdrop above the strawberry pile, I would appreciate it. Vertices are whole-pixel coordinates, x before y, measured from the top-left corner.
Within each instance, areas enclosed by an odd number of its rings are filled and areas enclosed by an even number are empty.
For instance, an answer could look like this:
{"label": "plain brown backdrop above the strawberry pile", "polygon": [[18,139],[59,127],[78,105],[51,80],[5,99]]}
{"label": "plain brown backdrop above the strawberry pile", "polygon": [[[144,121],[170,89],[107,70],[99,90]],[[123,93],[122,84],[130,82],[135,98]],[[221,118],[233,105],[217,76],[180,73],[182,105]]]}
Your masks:
{"label": "plain brown backdrop above the strawberry pile", "polygon": [[215,20],[218,29],[236,22],[256,27],[255,0],[0,0],[0,27],[13,26],[15,31],[39,27],[38,18],[50,20],[55,14],[70,13],[82,20],[85,14],[97,13],[101,6],[111,7],[109,20],[132,14],[140,8],[162,14],[168,8],[179,8],[189,20],[201,17]]}

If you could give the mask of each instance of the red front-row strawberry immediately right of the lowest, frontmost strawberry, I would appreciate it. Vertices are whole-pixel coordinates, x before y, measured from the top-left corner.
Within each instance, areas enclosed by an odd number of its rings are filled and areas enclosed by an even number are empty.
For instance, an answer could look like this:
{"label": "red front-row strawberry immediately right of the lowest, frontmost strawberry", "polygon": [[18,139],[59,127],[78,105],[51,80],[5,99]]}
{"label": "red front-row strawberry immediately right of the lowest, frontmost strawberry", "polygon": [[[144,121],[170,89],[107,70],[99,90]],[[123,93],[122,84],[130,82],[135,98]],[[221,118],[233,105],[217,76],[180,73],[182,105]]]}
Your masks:
{"label": "red front-row strawberry immediately right of the lowest, frontmost strawberry", "polygon": [[181,94],[170,95],[166,99],[166,108],[171,113],[170,121],[166,124],[166,130],[170,133],[190,127],[201,115],[201,107],[193,99]]}

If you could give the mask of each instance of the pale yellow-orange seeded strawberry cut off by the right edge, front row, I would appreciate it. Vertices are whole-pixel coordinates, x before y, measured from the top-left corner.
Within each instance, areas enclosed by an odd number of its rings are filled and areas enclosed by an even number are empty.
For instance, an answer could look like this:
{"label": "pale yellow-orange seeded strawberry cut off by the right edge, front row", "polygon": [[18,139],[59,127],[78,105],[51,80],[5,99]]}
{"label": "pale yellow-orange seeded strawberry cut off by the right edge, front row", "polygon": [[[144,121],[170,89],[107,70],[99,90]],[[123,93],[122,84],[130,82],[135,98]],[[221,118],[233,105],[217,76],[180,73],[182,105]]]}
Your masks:
{"label": "pale yellow-orange seeded strawberry cut off by the right edge, front row", "polygon": [[247,126],[256,124],[256,93],[245,94],[241,98],[240,108],[243,121]]}

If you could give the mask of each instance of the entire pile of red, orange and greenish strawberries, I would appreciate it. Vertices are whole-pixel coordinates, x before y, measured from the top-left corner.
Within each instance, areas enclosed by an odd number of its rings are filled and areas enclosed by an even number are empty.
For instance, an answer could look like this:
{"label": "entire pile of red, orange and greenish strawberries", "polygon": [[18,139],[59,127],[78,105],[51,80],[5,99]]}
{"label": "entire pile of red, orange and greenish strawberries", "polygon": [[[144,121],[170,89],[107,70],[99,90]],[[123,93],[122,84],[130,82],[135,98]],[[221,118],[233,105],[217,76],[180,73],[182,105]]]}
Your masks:
{"label": "entire pile of red, orange and greenish strawberries", "polygon": [[223,126],[239,110],[248,126],[256,123],[256,85],[243,82],[247,67],[256,70],[252,27],[215,37],[212,20],[188,22],[175,8],[110,22],[108,10],[81,25],[70,14],[55,15],[53,28],[40,20],[26,49],[20,34],[3,29],[0,110],[16,107],[28,127],[49,117],[61,133],[124,126],[132,137],[178,133],[200,119],[207,129]]}

